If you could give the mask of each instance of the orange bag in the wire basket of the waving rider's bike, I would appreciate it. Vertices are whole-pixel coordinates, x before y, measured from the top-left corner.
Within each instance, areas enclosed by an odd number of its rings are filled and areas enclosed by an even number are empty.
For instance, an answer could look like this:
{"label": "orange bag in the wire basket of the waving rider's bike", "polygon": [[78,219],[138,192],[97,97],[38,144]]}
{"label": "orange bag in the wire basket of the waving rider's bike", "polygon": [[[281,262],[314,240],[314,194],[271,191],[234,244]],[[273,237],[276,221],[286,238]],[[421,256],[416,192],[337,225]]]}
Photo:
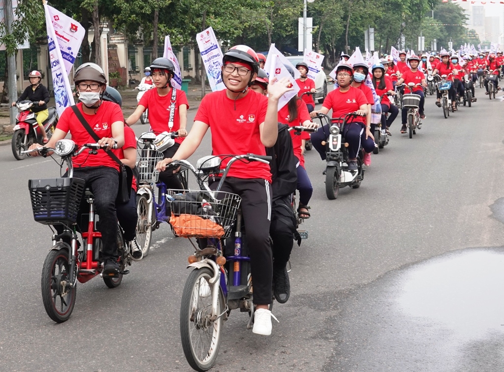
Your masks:
{"label": "orange bag in the wire basket of the waving rider's bike", "polygon": [[192,214],[172,215],[170,225],[178,236],[221,237],[224,235],[224,229],[218,223]]}

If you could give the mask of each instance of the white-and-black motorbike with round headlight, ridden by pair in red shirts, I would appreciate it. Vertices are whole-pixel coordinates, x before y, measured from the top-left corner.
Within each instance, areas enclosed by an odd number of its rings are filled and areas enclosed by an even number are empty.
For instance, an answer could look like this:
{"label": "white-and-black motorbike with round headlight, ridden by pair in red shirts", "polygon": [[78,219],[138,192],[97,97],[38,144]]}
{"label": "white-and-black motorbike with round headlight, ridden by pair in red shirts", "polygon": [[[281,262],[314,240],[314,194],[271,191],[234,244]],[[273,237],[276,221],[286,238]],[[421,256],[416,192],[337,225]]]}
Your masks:
{"label": "white-and-black motorbike with round headlight, ridden by pair in red shirts", "polygon": [[362,179],[364,179],[362,148],[359,149],[357,154],[357,170],[348,170],[348,143],[345,143],[343,137],[345,125],[358,115],[348,113],[339,119],[335,119],[334,123],[333,119],[328,115],[319,113],[316,117],[321,121],[324,131],[325,128],[329,129],[329,133],[326,134],[327,141],[323,141],[322,145],[326,146],[326,195],[329,200],[334,200],[338,198],[340,188],[349,186],[352,189],[358,189]]}

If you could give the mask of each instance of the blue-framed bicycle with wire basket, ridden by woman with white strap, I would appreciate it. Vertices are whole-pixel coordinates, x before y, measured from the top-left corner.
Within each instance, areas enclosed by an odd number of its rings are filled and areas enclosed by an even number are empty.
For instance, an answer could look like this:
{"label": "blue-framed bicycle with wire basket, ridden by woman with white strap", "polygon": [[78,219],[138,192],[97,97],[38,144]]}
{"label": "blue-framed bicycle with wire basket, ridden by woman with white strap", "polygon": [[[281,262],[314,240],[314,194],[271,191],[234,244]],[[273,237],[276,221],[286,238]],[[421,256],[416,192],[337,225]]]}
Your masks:
{"label": "blue-framed bicycle with wire basket, ridden by woman with white strap", "polygon": [[[142,250],[143,257],[149,254],[152,232],[157,230],[162,222],[168,222],[170,216],[166,210],[167,187],[158,181],[159,172],[156,170],[158,161],[164,159],[162,152],[157,149],[166,141],[173,141],[178,137],[175,132],[163,132],[157,135],[153,132],[143,133],[137,145],[137,168],[140,173],[137,191],[137,241]],[[187,189],[187,170],[177,174],[178,179]],[[156,188],[157,201],[156,201]]]}

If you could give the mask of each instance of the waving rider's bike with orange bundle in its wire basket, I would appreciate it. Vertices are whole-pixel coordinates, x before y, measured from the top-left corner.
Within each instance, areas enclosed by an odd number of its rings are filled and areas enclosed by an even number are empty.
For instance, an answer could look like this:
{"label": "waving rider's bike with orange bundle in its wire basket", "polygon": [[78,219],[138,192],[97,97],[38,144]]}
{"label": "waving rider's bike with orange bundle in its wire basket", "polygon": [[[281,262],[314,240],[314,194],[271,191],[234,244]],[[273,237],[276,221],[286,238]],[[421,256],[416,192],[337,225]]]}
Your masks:
{"label": "waving rider's bike with orange bundle in its wire basket", "polygon": [[[223,157],[224,159],[221,159]],[[221,172],[220,164],[230,158]],[[180,303],[180,338],[187,362],[196,370],[207,370],[217,358],[222,324],[232,309],[248,312],[247,329],[254,321],[250,257],[243,235],[241,198],[220,191],[231,165],[237,161],[269,163],[270,156],[205,156],[196,168],[185,160],[175,160],[168,168],[184,166],[196,176],[201,190],[185,190],[169,198],[170,224],[178,236],[192,243],[195,254],[188,258],[189,274]],[[221,176],[215,191],[207,181]],[[234,234],[234,238],[231,236]],[[192,238],[207,240],[194,243]],[[271,308],[271,307],[270,307]]]}

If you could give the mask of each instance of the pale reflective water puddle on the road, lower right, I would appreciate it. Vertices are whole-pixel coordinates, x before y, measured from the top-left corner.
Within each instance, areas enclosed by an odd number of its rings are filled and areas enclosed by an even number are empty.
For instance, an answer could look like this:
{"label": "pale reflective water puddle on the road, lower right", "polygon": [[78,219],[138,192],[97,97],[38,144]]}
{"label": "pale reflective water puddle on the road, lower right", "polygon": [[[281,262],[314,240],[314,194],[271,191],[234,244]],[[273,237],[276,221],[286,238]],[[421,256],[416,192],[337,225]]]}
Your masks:
{"label": "pale reflective water puddle on the road, lower right", "polygon": [[397,301],[411,317],[443,324],[459,337],[504,333],[504,253],[464,250],[407,270]]}

